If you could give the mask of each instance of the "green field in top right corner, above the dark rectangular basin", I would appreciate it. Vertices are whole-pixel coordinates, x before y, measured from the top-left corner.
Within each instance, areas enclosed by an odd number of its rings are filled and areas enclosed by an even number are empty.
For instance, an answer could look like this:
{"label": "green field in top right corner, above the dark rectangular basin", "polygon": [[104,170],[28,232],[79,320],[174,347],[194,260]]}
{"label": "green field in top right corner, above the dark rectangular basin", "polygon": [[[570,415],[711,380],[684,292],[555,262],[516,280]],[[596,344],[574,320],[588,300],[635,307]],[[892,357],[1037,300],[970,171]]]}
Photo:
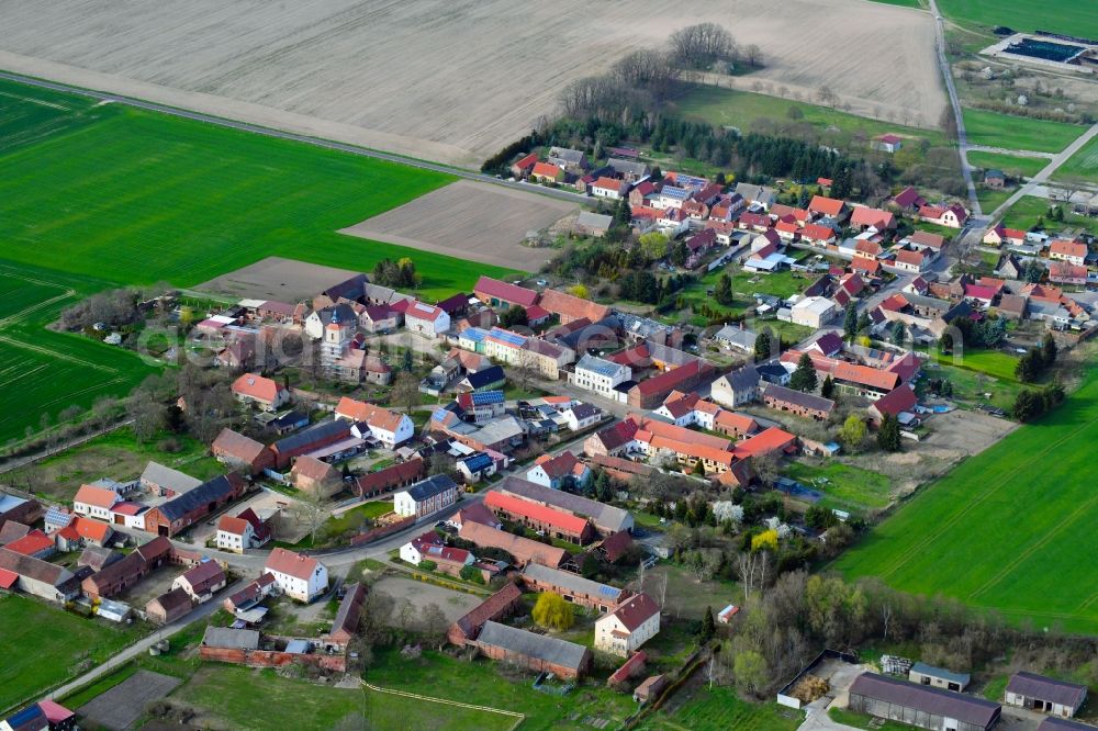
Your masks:
{"label": "green field in top right corner, above the dark rectangular basin", "polygon": [[1007,25],[1098,38],[1098,4],[1085,0],[940,0],[938,7],[950,20],[989,29]]}

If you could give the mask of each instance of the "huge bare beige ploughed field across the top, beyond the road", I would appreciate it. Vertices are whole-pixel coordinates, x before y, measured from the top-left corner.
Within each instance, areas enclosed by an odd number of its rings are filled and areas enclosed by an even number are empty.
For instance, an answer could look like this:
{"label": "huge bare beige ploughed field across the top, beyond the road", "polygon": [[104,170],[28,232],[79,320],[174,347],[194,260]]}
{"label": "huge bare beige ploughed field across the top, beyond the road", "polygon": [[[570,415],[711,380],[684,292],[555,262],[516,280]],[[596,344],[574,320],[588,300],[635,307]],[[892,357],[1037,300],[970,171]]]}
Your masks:
{"label": "huge bare beige ploughed field across the top, beyond the road", "polygon": [[758,44],[744,81],[932,125],[928,13],[864,0],[0,0],[0,68],[461,166],[551,114],[568,82],[699,21]]}

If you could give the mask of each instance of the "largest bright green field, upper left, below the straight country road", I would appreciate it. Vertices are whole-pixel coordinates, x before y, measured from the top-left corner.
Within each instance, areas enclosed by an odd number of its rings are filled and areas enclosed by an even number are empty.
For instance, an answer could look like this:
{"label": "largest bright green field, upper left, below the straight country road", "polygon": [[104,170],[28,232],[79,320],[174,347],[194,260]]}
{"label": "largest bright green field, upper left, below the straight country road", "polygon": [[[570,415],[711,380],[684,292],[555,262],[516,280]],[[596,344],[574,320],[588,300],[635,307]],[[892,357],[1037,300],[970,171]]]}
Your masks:
{"label": "largest bright green field, upper left, below the straight country road", "polygon": [[438,297],[508,275],[336,233],[450,176],[8,81],[0,119],[24,140],[0,154],[0,238],[15,261],[192,286],[268,256],[362,271],[408,256]]}

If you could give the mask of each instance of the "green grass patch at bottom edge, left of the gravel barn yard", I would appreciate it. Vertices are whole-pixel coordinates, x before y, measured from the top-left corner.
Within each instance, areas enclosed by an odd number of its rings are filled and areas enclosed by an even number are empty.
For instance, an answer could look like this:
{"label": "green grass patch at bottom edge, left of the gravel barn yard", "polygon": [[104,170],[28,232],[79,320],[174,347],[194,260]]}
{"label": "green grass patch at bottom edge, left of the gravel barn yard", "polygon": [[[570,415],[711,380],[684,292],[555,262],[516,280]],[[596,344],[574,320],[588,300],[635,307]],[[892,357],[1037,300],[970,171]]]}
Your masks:
{"label": "green grass patch at bottom edge, left of the gravel barn yard", "polygon": [[804,721],[804,713],[774,702],[741,700],[731,688],[701,685],[684,690],[685,702],[673,701],[671,710],[660,709],[641,723],[648,731],[690,729],[691,731],[725,731],[725,729],[766,729],[793,731]]}

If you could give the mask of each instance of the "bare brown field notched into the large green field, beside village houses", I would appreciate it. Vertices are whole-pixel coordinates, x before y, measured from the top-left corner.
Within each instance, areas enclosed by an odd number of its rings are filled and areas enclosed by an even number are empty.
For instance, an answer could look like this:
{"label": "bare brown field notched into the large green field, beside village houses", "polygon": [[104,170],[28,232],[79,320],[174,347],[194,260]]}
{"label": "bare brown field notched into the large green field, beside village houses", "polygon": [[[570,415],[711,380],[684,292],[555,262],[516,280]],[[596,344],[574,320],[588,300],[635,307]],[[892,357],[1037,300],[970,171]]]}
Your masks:
{"label": "bare brown field notched into the large green field, beside village houses", "polygon": [[545,195],[459,180],[339,233],[419,251],[461,251],[467,260],[537,271],[553,252],[524,246],[527,232],[546,228],[575,209]]}

